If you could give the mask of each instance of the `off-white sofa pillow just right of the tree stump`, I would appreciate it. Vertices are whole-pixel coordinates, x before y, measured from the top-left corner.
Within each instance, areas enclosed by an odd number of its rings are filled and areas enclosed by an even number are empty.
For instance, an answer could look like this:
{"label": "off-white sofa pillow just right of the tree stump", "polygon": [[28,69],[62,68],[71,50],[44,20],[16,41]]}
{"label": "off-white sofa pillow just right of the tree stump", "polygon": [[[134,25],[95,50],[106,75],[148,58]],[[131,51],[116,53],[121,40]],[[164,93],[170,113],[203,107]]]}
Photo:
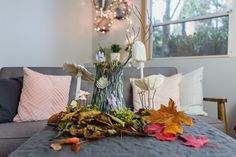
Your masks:
{"label": "off-white sofa pillow just right of the tree stump", "polygon": [[[133,88],[134,111],[137,112],[139,109],[146,107],[143,105],[150,105],[150,107],[154,107],[154,109],[160,109],[161,104],[167,105],[170,98],[174,100],[177,106],[177,110],[180,110],[179,83],[181,81],[181,78],[181,74],[172,75],[170,77],[165,77],[159,74],[150,75],[148,77],[145,77],[144,79],[131,79],[130,81]],[[140,89],[138,87],[138,84],[136,83],[139,83],[139,86],[141,85],[141,88],[143,86],[147,87],[150,90],[149,96],[147,91],[144,93],[144,100],[142,101],[139,93],[142,92],[143,89]],[[151,99],[151,102],[154,103],[153,106],[149,104],[149,97]]]}

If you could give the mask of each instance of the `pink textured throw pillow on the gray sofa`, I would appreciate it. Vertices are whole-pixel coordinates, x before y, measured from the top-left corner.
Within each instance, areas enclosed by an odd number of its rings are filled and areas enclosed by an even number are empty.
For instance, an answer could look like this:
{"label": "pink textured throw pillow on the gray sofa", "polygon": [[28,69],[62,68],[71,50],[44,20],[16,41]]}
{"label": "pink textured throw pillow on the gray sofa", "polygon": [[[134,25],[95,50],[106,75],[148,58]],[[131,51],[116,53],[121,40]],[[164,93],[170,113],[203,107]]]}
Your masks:
{"label": "pink textured throw pillow on the gray sofa", "polygon": [[65,111],[71,76],[44,75],[24,68],[24,81],[18,114],[13,121],[37,121]]}

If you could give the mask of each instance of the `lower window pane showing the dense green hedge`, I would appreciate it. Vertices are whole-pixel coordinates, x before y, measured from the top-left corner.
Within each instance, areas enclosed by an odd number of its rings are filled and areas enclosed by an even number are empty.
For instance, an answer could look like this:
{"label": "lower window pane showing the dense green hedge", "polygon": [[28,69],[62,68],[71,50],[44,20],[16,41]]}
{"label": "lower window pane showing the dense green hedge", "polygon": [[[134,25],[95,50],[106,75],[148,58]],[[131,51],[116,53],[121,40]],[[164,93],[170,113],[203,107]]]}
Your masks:
{"label": "lower window pane showing the dense green hedge", "polygon": [[226,55],[228,16],[153,28],[152,57]]}

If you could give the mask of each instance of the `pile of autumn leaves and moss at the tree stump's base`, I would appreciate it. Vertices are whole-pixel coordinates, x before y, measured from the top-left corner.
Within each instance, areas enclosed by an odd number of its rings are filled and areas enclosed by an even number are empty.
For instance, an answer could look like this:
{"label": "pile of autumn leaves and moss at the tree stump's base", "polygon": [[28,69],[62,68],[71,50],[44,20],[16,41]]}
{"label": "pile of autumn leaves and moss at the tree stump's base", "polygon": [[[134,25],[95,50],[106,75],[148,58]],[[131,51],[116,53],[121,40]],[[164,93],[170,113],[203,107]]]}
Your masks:
{"label": "pile of autumn leaves and moss at the tree stump's base", "polygon": [[[182,123],[193,126],[190,117],[181,111],[177,112],[172,99],[169,100],[167,106],[161,105],[159,110],[143,109],[138,113],[130,109],[105,113],[99,111],[96,106],[81,106],[77,101],[77,106],[70,105],[66,112],[54,114],[48,119],[48,125],[55,126],[58,130],[51,148],[60,150],[63,144],[72,144],[71,149],[74,152],[80,150],[83,142],[122,134],[174,141],[178,134],[184,132]],[[201,143],[201,139],[191,137],[193,140],[190,139],[185,145],[196,146],[196,143]],[[203,144],[208,142],[207,137],[204,140]]]}

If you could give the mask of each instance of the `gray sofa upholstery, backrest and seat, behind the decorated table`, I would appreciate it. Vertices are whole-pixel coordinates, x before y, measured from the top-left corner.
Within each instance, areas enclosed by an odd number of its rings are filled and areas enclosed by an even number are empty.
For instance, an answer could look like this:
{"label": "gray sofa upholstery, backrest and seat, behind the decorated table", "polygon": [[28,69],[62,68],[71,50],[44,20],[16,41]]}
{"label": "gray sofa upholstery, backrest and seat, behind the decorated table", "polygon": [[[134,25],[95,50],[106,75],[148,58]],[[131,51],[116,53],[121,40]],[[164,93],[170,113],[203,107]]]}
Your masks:
{"label": "gray sofa upholstery, backrest and seat, behind the decorated table", "polygon": [[[62,68],[32,68],[35,71],[51,74],[51,75],[67,75]],[[95,74],[95,68],[88,67],[88,70]],[[165,76],[171,76],[177,73],[177,69],[174,67],[152,67],[145,68],[144,75],[150,74],[163,74]],[[13,78],[22,76],[22,68],[2,68],[0,70],[0,78]],[[124,69],[124,97],[128,107],[132,106],[132,89],[129,83],[129,78],[138,78],[139,71],[135,68],[125,68]],[[73,77],[70,89],[70,100],[75,96],[76,88],[76,78]],[[93,83],[82,81],[81,89],[92,93]],[[222,130],[224,125],[221,121],[210,117],[200,117],[203,121],[217,127]],[[15,150],[19,145],[24,143],[28,138],[30,138],[34,133],[44,128],[46,121],[37,122],[23,122],[23,123],[2,123],[0,124],[0,157],[7,156],[10,152]]]}

